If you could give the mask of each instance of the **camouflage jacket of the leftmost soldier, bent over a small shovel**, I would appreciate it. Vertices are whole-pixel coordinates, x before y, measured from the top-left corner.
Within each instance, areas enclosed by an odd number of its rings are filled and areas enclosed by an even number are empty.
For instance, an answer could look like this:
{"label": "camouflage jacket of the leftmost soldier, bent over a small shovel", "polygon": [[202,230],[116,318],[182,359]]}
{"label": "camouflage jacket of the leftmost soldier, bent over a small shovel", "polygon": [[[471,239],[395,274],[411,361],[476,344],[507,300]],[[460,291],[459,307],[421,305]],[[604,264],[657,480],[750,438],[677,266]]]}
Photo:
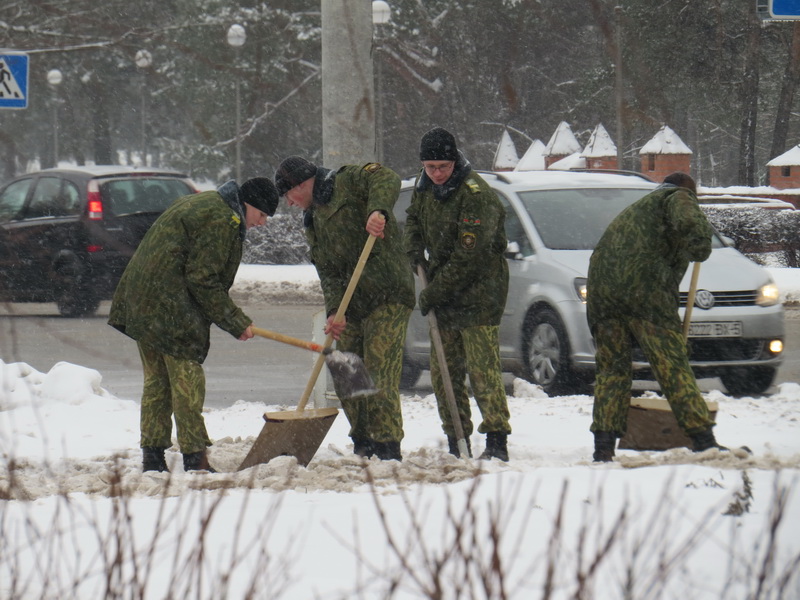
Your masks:
{"label": "camouflage jacket of the leftmost soldier, bent over a small shovel", "polygon": [[128,263],[109,324],[163,354],[202,363],[211,323],[235,337],[251,323],[228,295],[244,230],[233,182],[177,199]]}

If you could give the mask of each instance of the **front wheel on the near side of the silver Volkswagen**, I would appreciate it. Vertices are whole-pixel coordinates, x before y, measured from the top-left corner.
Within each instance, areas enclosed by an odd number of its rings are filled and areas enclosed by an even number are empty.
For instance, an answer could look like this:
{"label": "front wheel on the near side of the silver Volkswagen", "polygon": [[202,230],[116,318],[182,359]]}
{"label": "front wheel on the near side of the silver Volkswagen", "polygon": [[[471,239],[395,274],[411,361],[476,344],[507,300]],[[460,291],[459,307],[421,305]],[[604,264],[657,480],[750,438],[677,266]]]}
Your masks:
{"label": "front wheel on the near side of the silver Volkswagen", "polygon": [[586,377],[569,364],[569,340],[564,325],[552,310],[528,315],[523,331],[525,379],[542,387],[549,396],[585,394]]}

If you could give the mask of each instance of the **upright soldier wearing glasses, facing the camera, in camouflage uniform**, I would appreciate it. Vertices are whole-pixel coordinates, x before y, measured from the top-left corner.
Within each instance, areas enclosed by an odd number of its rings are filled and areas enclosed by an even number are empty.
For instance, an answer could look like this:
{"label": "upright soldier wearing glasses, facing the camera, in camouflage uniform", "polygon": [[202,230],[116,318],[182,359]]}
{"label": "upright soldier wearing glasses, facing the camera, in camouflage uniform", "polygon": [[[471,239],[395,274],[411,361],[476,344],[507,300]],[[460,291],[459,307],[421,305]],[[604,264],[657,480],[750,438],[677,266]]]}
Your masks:
{"label": "upright soldier wearing glasses, facing the camera, in camouflage uniform", "polygon": [[[408,208],[404,242],[428,287],[422,314],[435,309],[464,434],[472,433],[466,376],[486,434],[481,458],[508,460],[511,433],[500,364],[499,326],[508,294],[505,210],[489,185],[458,152],[452,134],[436,127],[420,143],[423,169]],[[426,253],[428,258],[426,258]],[[442,373],[431,344],[431,380],[451,454],[459,456]],[[470,450],[471,454],[471,450]]]}

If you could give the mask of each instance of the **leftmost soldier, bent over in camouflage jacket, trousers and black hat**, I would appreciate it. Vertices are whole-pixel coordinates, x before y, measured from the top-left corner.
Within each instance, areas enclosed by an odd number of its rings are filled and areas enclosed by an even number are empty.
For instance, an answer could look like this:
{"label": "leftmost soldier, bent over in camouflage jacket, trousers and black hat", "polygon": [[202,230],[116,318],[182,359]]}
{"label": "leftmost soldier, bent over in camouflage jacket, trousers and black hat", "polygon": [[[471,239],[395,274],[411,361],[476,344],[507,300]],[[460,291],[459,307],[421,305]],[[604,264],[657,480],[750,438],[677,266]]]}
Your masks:
{"label": "leftmost soldier, bent over in camouflage jacket, trousers and black hat", "polygon": [[203,361],[211,324],[235,338],[253,337],[252,320],[228,295],[250,227],[275,214],[272,181],[176,200],[156,220],[128,263],[114,293],[108,322],[136,340],[144,367],[141,447],[144,471],[166,471],[172,415],[187,471],[211,470],[202,409]]}

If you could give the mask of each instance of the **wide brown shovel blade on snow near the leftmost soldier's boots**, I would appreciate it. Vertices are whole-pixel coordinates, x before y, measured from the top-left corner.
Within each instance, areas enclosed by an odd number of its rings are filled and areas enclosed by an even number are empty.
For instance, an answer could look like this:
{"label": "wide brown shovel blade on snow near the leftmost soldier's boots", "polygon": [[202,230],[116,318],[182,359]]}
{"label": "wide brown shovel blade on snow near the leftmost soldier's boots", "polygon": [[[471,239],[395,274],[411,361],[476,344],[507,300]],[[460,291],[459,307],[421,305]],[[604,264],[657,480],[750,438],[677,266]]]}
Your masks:
{"label": "wide brown shovel blade on snow near the leftmost soldier's boots", "polygon": [[294,456],[298,464],[307,466],[338,414],[336,408],[265,413],[261,433],[239,465],[239,471],[269,462],[277,456]]}

